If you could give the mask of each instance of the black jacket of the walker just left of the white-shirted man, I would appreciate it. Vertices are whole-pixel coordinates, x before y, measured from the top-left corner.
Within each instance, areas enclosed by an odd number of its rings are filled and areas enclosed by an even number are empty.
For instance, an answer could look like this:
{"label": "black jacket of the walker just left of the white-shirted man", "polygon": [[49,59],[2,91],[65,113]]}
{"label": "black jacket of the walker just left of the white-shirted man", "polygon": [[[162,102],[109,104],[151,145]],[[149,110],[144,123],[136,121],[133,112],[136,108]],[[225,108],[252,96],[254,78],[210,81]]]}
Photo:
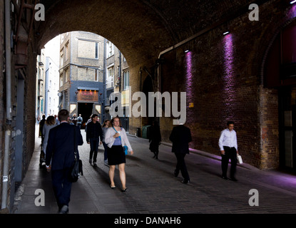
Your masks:
{"label": "black jacket of the walker just left of the white-shirted man", "polygon": [[175,126],[170,134],[173,142],[172,152],[189,154],[189,142],[192,141],[190,129],[184,125]]}

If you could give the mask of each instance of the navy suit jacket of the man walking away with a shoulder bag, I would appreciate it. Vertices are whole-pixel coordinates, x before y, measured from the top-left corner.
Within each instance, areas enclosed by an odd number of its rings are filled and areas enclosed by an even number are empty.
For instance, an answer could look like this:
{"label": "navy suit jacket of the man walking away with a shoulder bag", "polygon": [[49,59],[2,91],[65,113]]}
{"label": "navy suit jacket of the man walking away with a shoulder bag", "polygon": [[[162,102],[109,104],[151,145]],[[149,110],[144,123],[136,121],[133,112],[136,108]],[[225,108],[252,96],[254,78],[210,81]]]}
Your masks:
{"label": "navy suit jacket of the man walking away with a shoulder bag", "polygon": [[46,165],[49,165],[51,162],[51,170],[63,170],[73,165],[74,128],[76,128],[76,151],[77,159],[79,159],[78,145],[83,145],[83,139],[78,127],[68,123],[61,123],[49,131],[49,140],[46,147]]}

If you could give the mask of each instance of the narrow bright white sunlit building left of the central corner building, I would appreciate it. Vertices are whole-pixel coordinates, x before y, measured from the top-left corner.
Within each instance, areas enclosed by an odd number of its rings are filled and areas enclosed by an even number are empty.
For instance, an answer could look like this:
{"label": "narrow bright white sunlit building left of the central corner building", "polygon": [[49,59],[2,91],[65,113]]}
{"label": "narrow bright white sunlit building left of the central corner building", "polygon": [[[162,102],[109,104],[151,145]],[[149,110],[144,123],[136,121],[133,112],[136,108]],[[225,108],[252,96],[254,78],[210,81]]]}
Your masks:
{"label": "narrow bright white sunlit building left of the central corner building", "polygon": [[58,65],[53,60],[46,56],[45,64],[45,78],[46,78],[46,89],[45,89],[45,114],[46,117],[49,115],[58,115]]}

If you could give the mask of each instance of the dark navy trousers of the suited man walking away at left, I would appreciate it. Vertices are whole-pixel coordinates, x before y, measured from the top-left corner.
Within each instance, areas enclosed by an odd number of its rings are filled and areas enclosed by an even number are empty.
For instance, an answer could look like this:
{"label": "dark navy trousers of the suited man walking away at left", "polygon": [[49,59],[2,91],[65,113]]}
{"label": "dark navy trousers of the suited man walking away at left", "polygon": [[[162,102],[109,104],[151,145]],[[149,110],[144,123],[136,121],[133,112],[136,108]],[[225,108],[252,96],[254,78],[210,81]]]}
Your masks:
{"label": "dark navy trousers of the suited man walking away at left", "polygon": [[70,202],[72,182],[68,179],[70,168],[64,170],[51,170],[53,192],[58,203],[58,209]]}

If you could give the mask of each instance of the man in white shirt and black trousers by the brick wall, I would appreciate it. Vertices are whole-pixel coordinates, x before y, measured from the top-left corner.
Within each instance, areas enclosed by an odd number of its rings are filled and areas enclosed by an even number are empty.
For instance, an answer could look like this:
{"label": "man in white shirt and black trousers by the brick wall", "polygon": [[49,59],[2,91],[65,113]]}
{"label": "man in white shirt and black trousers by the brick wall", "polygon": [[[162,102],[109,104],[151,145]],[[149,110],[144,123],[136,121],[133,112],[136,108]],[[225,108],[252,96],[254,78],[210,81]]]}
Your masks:
{"label": "man in white shirt and black trousers by the brick wall", "polygon": [[222,167],[222,178],[228,180],[227,170],[228,170],[228,161],[231,160],[230,168],[230,180],[238,181],[235,179],[235,170],[236,164],[238,162],[238,140],[236,137],[233,121],[228,121],[228,128],[223,130],[219,139],[219,147],[221,151],[221,167]]}

